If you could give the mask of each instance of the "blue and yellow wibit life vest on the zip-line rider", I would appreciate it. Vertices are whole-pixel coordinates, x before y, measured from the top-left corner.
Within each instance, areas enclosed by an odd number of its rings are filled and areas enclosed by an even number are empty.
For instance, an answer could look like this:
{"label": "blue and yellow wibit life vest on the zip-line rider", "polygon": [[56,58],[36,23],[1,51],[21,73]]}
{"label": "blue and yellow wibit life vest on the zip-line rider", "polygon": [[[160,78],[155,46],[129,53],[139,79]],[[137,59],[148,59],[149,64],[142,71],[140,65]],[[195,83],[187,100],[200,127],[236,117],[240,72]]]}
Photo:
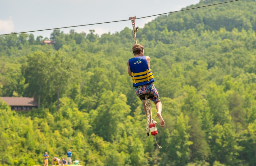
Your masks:
{"label": "blue and yellow wibit life vest on the zip-line rider", "polygon": [[151,69],[148,68],[146,57],[134,57],[129,59],[129,66],[132,72],[133,87],[155,82],[153,73]]}

